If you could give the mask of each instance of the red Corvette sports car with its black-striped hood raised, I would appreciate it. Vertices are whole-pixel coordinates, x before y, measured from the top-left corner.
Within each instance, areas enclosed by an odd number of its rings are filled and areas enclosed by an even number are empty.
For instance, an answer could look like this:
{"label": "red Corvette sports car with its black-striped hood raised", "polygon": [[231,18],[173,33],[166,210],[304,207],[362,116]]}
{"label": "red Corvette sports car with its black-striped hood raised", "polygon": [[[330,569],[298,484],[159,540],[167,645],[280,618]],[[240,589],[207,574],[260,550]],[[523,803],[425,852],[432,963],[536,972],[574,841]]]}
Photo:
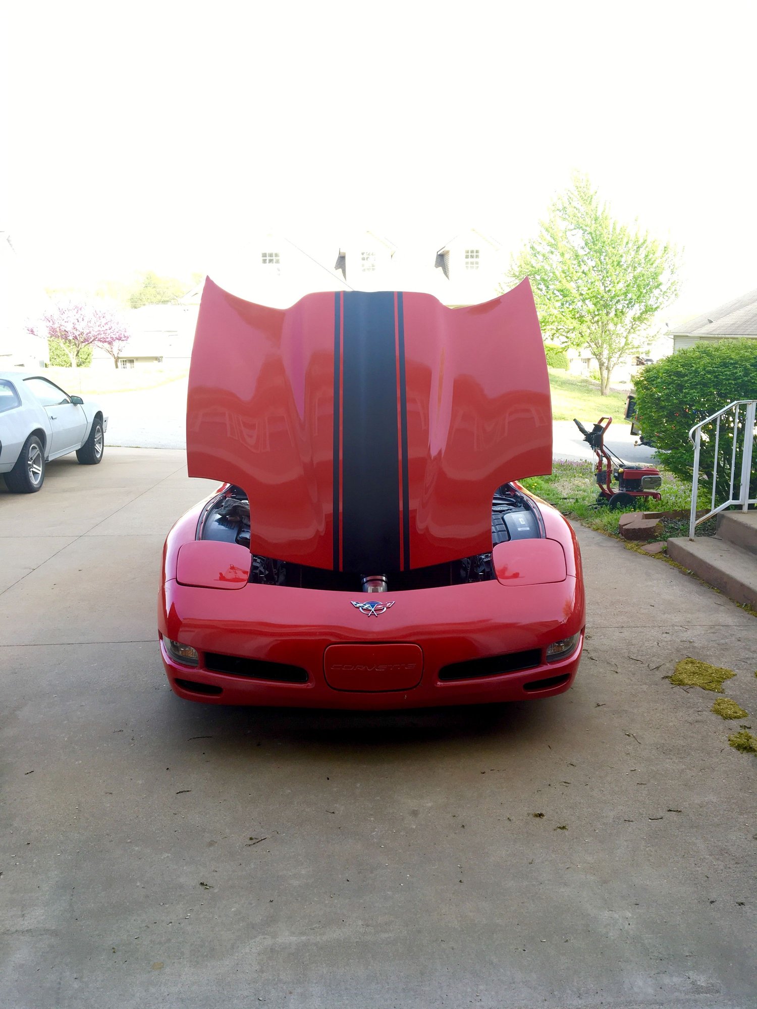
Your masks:
{"label": "red Corvette sports car with its black-striped hood raised", "polygon": [[206,282],[160,652],[188,700],[406,708],[572,683],[575,537],[516,480],[552,466],[527,281],[483,305],[308,295],[282,311]]}

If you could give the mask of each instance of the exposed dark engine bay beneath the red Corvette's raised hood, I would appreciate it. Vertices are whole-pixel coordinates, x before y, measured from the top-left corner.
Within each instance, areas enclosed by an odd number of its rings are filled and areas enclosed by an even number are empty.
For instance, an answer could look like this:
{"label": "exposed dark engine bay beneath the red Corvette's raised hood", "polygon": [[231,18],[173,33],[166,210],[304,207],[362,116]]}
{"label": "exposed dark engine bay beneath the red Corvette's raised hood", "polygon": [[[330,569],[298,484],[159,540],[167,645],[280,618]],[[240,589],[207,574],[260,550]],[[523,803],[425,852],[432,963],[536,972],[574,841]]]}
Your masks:
{"label": "exposed dark engine bay beneath the red Corvette's raised hood", "polygon": [[[544,524],[536,502],[512,483],[498,487],[492,500],[492,549],[509,540],[539,539],[543,536]],[[200,515],[196,538],[236,543],[249,549],[249,501],[241,487],[229,486],[208,501]],[[410,571],[387,571],[381,574],[366,571],[330,571],[253,553],[249,573],[249,581],[257,584],[345,592],[366,590],[397,592],[404,589],[435,588],[441,585],[464,585],[490,581],[495,577],[491,551],[431,567],[415,568]],[[368,583],[382,584],[385,587],[366,589],[365,585]]]}

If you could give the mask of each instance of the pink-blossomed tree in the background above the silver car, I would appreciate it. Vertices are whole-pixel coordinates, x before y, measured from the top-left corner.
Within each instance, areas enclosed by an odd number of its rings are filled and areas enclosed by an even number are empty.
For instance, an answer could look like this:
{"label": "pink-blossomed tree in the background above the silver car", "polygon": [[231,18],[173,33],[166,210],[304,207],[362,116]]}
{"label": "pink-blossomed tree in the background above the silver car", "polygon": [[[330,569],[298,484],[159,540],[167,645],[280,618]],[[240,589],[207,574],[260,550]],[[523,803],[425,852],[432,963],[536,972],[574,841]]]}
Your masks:
{"label": "pink-blossomed tree in the background above the silver car", "polygon": [[26,330],[32,336],[60,340],[73,368],[77,366],[79,352],[93,345],[107,351],[118,367],[118,358],[129,340],[129,331],[117,312],[85,302],[53,305],[38,322],[27,325]]}

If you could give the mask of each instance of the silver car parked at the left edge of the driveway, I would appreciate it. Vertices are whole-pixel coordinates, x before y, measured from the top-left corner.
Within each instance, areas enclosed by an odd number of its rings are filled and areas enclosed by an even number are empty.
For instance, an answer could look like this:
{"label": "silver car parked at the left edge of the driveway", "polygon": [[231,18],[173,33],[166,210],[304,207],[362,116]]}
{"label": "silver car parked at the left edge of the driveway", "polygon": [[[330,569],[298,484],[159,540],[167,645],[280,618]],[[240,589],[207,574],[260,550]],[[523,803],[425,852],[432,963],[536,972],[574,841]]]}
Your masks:
{"label": "silver car parked at the left edge of the driveway", "polygon": [[108,418],[91,400],[39,374],[0,371],[0,473],[8,490],[38,490],[45,464],[69,452],[85,465],[100,462],[107,429]]}

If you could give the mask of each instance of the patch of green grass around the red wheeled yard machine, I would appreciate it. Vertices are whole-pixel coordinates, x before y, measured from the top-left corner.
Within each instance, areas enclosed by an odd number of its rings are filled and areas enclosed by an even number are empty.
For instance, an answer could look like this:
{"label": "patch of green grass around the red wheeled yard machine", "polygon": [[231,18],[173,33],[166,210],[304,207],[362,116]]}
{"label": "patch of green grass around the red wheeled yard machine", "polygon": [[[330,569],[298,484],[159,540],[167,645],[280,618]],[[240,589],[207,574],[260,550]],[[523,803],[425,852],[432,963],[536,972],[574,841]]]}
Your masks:
{"label": "patch of green grass around the red wheeled yard machine", "polygon": [[[667,512],[688,510],[690,503],[691,485],[683,483],[672,473],[660,470],[662,473],[662,486],[660,493],[661,501],[649,500],[645,506],[640,506],[640,511]],[[597,529],[612,536],[618,536],[618,525],[624,512],[633,512],[633,509],[620,509],[611,512],[607,506],[597,507],[598,488],[594,482],[593,463],[585,462],[555,462],[552,467],[551,476],[530,476],[521,481],[528,490],[538,494],[544,500],[549,501],[559,509],[563,515],[571,519],[577,519],[582,525],[590,529]],[[706,491],[701,491],[706,495]],[[709,508],[710,502],[699,499],[699,507]],[[698,527],[699,535],[710,535],[715,532],[715,520],[712,520],[713,529],[710,523],[704,523]],[[671,536],[688,535],[688,519],[666,520],[663,524],[662,533],[655,537],[656,540],[667,540]]]}

